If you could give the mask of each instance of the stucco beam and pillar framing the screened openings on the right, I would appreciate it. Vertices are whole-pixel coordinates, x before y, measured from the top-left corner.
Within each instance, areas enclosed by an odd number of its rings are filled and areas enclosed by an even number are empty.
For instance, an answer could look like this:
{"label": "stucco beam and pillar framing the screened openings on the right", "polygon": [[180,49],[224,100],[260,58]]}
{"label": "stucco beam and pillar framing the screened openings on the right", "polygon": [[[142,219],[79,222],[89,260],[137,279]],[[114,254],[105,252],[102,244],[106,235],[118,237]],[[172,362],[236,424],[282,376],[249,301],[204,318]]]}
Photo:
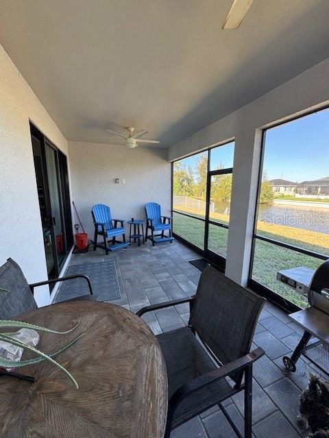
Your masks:
{"label": "stucco beam and pillar framing the screened openings on the right", "polygon": [[171,147],[169,160],[235,138],[226,274],[247,284],[262,128],[329,104],[329,60]]}

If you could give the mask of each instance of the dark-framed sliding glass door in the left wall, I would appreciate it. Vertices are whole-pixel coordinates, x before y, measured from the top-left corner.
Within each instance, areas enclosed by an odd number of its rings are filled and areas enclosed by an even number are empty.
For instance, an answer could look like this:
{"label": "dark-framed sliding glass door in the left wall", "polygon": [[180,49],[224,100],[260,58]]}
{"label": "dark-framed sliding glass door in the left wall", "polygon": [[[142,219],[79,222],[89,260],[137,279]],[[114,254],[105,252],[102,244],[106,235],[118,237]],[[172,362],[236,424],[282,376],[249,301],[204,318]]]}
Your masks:
{"label": "dark-framed sliding glass door in the left wall", "polygon": [[33,125],[31,136],[47,272],[52,278],[73,244],[66,157]]}

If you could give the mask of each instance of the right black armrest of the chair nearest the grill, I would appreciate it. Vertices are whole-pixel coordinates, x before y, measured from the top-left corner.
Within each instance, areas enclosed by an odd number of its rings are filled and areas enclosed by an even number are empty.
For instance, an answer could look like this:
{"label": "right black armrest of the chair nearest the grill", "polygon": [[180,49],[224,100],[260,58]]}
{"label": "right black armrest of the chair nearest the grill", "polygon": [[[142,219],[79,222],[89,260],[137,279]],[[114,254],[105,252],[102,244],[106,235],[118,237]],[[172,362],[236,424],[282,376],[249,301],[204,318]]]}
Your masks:
{"label": "right black armrest of the chair nearest the grill", "polygon": [[219,378],[223,378],[229,376],[233,372],[237,372],[243,370],[243,368],[247,368],[249,365],[252,365],[255,361],[260,359],[265,354],[263,348],[256,348],[252,352],[249,352],[247,355],[239,357],[235,361],[230,363],[226,363],[220,368],[216,368],[216,370],[212,370],[202,376],[193,378],[193,381],[185,383],[177,391],[171,396],[169,400],[170,409],[175,409],[177,405],[186,398],[189,394],[201,389],[211,383],[217,381]]}

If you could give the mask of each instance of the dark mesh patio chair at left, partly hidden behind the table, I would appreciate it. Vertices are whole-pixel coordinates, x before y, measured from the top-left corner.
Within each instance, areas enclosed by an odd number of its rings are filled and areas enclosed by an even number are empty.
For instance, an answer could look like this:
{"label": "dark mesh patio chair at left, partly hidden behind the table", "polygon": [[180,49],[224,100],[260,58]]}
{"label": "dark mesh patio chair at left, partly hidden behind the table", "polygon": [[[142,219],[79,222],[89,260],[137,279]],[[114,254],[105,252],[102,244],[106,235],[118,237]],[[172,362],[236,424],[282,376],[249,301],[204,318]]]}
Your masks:
{"label": "dark mesh patio chair at left, partly hidden behind the table", "polygon": [[[35,310],[38,306],[34,300],[34,288],[42,285],[57,283],[58,281],[68,281],[71,279],[83,278],[88,283],[89,295],[72,298],[69,301],[75,300],[95,300],[90,279],[86,275],[76,274],[62,276],[59,279],[51,279],[41,281],[40,283],[28,284],[23,271],[13,259],[8,259],[3,266],[0,267],[0,320],[10,320],[21,313]],[[8,292],[6,292],[8,291]]]}

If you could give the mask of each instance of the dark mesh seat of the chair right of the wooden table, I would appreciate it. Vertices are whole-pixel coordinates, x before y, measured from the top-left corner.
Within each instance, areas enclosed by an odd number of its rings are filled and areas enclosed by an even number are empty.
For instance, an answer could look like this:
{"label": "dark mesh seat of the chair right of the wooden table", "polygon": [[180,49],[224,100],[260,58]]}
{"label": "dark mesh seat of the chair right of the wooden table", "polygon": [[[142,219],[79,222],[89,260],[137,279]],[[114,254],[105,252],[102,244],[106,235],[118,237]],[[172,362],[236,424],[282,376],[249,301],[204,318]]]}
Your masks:
{"label": "dark mesh seat of the chair right of the wooden table", "polygon": [[[169,398],[185,383],[217,368],[188,327],[162,333],[157,339],[167,365]],[[178,405],[172,428],[225,400],[230,391],[226,378],[195,391]]]}

